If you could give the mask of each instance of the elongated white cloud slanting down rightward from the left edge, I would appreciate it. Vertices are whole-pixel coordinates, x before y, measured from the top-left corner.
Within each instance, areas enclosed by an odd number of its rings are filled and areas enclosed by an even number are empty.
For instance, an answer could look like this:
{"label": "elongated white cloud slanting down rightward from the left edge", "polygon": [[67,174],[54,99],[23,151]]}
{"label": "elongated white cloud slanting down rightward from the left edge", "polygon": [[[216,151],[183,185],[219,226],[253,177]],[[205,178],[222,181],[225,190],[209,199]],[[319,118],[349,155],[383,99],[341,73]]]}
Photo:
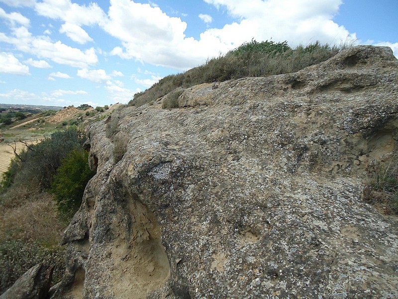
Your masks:
{"label": "elongated white cloud slanting down rightward from the left edge", "polygon": [[0,32],[0,41],[13,44],[19,51],[51,59],[59,64],[85,68],[98,63],[94,48],[80,50],[61,41],[53,43],[48,36],[32,36],[25,27],[12,28],[12,36]]}

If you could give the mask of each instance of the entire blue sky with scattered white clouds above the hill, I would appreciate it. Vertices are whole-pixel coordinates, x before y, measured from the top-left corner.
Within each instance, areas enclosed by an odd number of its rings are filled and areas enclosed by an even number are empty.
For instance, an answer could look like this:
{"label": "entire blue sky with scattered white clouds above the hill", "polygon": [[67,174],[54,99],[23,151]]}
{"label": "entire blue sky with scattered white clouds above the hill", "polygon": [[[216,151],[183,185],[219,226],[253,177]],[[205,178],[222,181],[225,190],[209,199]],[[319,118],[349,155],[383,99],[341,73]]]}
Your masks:
{"label": "entire blue sky with scattered white clouds above the hill", "polygon": [[0,0],[0,103],[128,103],[243,42],[390,46],[398,0]]}

